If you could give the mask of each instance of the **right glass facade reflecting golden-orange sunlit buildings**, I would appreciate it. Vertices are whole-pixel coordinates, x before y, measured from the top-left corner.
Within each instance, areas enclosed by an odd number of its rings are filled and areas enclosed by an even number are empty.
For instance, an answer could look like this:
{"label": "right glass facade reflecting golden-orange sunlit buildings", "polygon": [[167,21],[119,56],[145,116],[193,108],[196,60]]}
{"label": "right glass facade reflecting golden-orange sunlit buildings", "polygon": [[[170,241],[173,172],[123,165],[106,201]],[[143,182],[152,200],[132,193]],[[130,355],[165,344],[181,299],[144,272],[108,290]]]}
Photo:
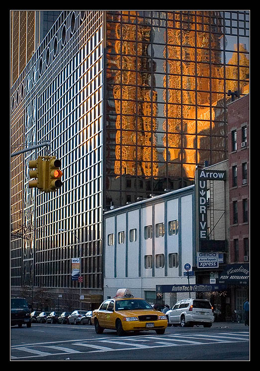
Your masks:
{"label": "right glass facade reflecting golden-orange sunlit buildings", "polygon": [[109,206],[226,159],[227,92],[249,91],[249,12],[108,11],[106,26]]}

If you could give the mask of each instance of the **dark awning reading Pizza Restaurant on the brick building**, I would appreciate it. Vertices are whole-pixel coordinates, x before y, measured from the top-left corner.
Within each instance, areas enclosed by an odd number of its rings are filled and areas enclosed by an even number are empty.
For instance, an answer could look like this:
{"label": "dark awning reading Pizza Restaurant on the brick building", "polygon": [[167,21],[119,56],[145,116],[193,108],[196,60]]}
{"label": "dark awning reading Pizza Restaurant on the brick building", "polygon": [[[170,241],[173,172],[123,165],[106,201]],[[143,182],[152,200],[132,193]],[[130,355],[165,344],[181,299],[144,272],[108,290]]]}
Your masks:
{"label": "dark awning reading Pizza Restaurant on the brick building", "polygon": [[229,264],[219,276],[219,283],[249,284],[249,264]]}

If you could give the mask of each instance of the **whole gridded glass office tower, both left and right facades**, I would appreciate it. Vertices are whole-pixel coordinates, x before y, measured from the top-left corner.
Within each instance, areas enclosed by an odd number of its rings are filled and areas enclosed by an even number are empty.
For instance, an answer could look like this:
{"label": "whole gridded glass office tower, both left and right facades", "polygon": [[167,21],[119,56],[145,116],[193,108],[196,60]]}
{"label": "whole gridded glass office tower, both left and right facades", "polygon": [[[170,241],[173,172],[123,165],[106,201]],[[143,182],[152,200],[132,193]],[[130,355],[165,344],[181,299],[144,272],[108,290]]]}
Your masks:
{"label": "whole gridded glass office tower, both left and right facades", "polygon": [[64,173],[41,193],[28,162],[45,149],[12,158],[13,288],[66,307],[81,255],[83,295],[101,295],[103,209],[193,184],[196,165],[227,158],[227,103],[249,92],[249,15],[62,11],[11,88],[11,143],[49,140]]}

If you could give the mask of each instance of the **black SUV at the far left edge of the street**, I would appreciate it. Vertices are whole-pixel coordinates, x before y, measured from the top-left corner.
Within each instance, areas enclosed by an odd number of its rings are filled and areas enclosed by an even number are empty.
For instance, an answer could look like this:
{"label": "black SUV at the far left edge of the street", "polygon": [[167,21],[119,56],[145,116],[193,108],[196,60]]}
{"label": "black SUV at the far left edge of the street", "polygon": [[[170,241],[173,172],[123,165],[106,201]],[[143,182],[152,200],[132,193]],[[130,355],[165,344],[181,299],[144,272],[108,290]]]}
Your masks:
{"label": "black SUV at the far left edge of the street", "polygon": [[31,327],[31,314],[28,303],[24,298],[11,298],[11,326]]}

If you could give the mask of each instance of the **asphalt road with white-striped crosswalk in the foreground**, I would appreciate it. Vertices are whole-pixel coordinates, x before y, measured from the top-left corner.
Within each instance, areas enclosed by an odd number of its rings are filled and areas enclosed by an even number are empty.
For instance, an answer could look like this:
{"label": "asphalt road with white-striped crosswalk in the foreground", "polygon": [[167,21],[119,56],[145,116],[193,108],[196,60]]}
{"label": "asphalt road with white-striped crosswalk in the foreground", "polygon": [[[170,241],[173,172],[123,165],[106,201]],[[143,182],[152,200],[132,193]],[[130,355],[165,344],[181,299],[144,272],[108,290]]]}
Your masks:
{"label": "asphalt road with white-striped crosswalk in the foreground", "polygon": [[119,337],[93,326],[32,324],[12,327],[11,361],[249,361],[249,327],[214,323],[212,328],[168,327]]}

